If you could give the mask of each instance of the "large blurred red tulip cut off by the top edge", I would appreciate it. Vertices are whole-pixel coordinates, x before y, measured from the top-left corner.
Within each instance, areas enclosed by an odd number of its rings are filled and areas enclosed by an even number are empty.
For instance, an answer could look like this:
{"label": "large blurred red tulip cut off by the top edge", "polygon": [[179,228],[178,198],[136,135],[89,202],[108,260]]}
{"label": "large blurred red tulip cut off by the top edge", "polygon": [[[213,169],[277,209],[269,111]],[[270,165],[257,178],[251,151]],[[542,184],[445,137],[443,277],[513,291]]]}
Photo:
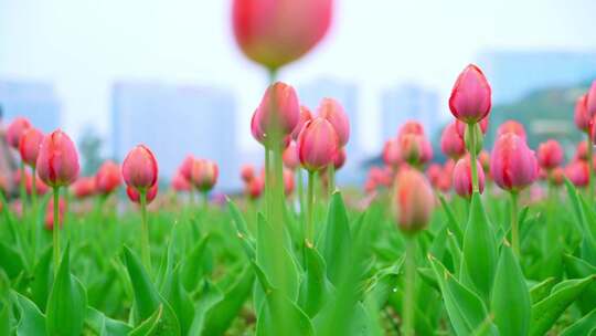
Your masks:
{"label": "large blurred red tulip cut off by the top edge", "polygon": [[308,53],[327,33],[332,0],[234,0],[234,35],[244,54],[272,70]]}

